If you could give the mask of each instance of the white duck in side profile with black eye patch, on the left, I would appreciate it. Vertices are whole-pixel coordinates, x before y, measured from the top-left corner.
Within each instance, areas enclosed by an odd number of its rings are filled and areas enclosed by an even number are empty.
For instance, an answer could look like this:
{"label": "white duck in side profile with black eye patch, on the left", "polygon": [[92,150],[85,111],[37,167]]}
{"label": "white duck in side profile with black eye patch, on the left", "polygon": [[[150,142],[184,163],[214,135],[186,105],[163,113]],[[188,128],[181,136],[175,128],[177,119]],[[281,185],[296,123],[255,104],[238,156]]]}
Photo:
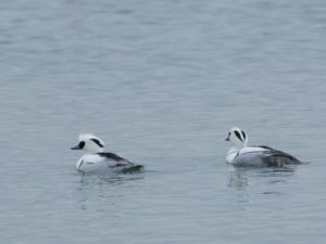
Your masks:
{"label": "white duck in side profile with black eye patch, on the left", "polygon": [[79,134],[78,144],[71,149],[87,152],[76,164],[77,170],[82,172],[133,172],[143,167],[117,154],[103,152],[104,142],[91,133]]}

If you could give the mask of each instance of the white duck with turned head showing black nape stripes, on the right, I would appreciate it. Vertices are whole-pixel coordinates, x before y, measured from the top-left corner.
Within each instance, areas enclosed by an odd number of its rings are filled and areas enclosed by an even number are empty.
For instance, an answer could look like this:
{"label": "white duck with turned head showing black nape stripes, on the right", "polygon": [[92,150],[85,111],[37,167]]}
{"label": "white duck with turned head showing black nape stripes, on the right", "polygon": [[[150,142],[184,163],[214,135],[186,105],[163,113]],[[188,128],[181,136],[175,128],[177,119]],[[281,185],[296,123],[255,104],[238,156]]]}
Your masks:
{"label": "white duck with turned head showing black nape stripes, on the right", "polygon": [[239,128],[231,128],[226,141],[231,147],[226,154],[226,162],[241,166],[283,166],[301,164],[299,159],[290,154],[269,146],[247,146],[248,136]]}

